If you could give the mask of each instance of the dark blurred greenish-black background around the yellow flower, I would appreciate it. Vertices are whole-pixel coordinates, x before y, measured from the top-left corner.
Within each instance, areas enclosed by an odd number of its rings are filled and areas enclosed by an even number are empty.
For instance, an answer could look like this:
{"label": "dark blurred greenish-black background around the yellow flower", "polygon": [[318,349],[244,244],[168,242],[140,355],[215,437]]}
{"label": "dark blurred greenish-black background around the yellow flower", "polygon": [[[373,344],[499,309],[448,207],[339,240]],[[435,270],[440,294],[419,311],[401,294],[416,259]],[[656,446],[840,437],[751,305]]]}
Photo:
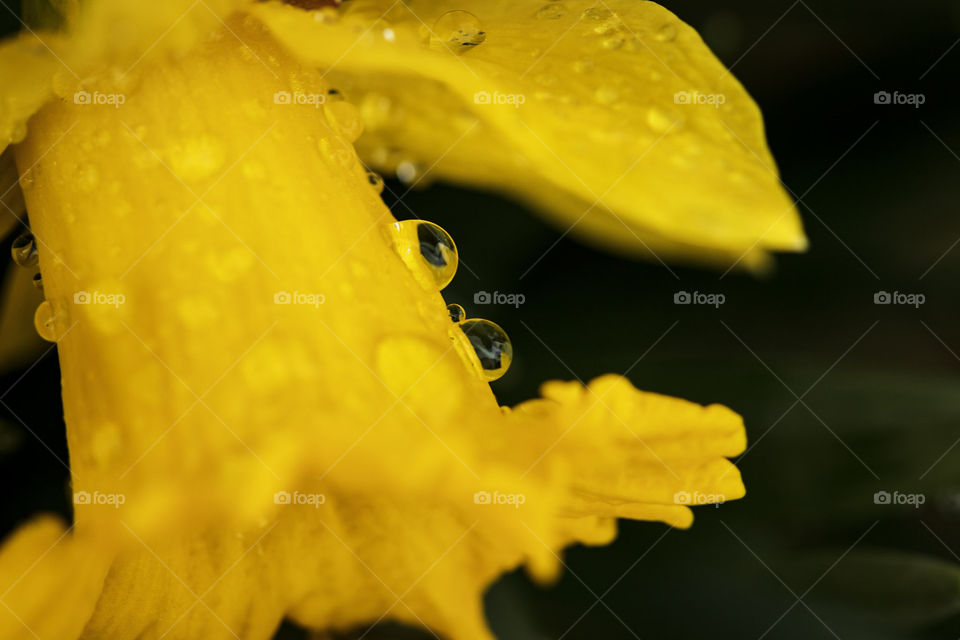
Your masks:
{"label": "dark blurred greenish-black background around the yellow flower", "polygon": [[[623,522],[611,547],[570,549],[550,589],[505,576],[487,594],[494,632],[957,638],[960,4],[663,4],[763,109],[783,181],[802,195],[807,254],[779,257],[760,279],[667,269],[558,242],[562,229],[493,195],[433,185],[399,202],[406,187],[387,182],[398,218],[416,212],[456,240],[448,302],[510,333],[513,368],[494,383],[502,404],[544,380],[629,370],[642,389],[723,403],[747,425],[745,499],[697,508],[689,531]],[[878,105],[880,91],[925,103]],[[478,305],[480,291],[525,302]],[[675,305],[678,291],[725,303]],[[924,303],[875,304],[881,291]],[[69,517],[56,351],[3,373],[0,389],[6,536],[37,511]],[[365,637],[431,636],[382,625]]]}

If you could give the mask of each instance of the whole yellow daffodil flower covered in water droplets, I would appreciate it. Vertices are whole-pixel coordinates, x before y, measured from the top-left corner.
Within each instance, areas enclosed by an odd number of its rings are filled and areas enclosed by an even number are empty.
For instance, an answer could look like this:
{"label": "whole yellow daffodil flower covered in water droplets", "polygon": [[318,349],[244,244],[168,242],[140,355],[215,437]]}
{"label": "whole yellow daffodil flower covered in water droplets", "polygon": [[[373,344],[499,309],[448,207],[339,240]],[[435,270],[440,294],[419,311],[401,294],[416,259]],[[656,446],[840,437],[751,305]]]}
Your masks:
{"label": "whole yellow daffodil flower covered in water droplets", "polygon": [[499,407],[509,342],[447,309],[453,240],[397,223],[366,168],[664,259],[801,249],[756,106],[665,9],[89,0],[63,22],[0,45],[0,139],[75,517],[0,549],[0,637],[489,638],[502,572],[548,582],[617,518],[687,527],[743,495],[725,407],[619,376]]}

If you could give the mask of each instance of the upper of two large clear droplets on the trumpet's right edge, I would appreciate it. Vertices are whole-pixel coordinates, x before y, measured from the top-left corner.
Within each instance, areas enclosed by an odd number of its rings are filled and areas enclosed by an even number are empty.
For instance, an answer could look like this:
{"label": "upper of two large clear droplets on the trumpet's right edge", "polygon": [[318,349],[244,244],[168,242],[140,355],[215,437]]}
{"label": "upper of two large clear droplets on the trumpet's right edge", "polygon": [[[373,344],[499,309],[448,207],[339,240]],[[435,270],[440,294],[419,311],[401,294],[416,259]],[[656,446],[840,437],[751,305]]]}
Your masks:
{"label": "upper of two large clear droplets on the trumpet's right edge", "polygon": [[439,225],[404,220],[389,226],[393,248],[426,288],[443,289],[457,273],[457,246]]}

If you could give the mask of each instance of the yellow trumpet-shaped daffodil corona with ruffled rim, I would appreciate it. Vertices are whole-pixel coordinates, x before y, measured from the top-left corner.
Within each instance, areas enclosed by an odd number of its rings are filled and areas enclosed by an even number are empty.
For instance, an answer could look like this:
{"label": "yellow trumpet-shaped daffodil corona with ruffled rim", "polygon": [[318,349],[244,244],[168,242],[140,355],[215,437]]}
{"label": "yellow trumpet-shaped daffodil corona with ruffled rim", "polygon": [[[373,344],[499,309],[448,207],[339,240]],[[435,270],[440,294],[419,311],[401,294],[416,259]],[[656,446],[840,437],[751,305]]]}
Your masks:
{"label": "yellow trumpet-shaped daffodil corona with ruffled rim", "polygon": [[265,640],[288,615],[485,640],[503,571],[552,578],[617,516],[686,526],[677,491],[742,495],[727,410],[612,377],[501,411],[393,249],[351,107],[285,99],[328,89],[235,19],[17,147],[76,536],[112,560],[85,638]]}

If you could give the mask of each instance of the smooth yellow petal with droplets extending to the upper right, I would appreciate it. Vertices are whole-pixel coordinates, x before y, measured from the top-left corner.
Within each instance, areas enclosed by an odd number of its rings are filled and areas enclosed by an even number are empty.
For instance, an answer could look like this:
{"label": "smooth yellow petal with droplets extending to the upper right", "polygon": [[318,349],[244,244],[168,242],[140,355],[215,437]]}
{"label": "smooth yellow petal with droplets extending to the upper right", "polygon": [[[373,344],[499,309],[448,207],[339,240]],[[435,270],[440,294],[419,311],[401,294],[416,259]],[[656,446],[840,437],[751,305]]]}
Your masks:
{"label": "smooth yellow petal with droplets extending to the upper right", "polygon": [[[485,40],[451,51],[451,10]],[[806,246],[756,104],[652,2],[358,0],[336,22],[252,11],[361,105],[358,148],[380,169],[505,190],[647,257],[757,265]]]}

